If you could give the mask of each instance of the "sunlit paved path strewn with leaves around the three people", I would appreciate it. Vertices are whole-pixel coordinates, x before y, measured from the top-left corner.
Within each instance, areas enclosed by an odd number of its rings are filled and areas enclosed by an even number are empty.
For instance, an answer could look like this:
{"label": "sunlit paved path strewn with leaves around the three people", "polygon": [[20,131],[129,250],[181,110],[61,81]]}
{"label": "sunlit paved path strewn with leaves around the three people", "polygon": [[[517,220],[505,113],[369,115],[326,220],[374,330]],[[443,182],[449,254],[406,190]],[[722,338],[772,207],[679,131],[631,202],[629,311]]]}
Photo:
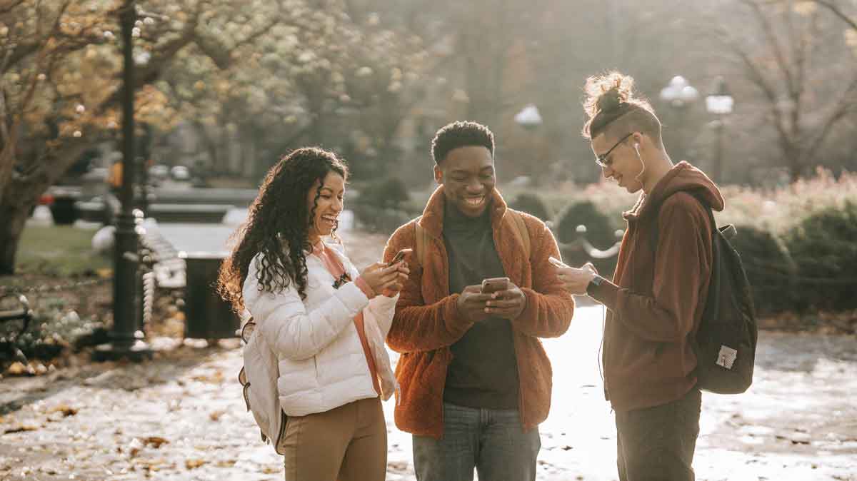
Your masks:
{"label": "sunlit paved path strewn with leaves around the three people", "polygon": [[[545,341],[552,414],[539,479],[614,479],[614,428],[596,354],[601,309]],[[169,343],[168,340],[164,340]],[[854,339],[763,333],[746,395],[704,395],[698,479],[857,480]],[[2,479],[279,479],[245,413],[235,348],[179,347],[145,365],[91,365],[0,383]],[[392,424],[390,480],[413,479],[410,436]],[[21,430],[21,431],[19,431]]]}

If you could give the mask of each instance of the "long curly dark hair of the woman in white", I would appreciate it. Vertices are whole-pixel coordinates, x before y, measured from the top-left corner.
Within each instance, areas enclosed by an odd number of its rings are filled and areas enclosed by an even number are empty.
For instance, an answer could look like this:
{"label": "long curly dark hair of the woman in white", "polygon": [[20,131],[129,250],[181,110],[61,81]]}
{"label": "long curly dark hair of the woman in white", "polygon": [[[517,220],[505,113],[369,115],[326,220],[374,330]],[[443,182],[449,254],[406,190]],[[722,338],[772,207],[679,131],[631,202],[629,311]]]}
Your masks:
{"label": "long curly dark hair of the woman in white", "polygon": [[312,252],[309,227],[315,218],[321,183],[309,214],[307,194],[315,181],[323,182],[330,172],[348,178],[345,162],[317,147],[292,151],[268,170],[247,221],[233,235],[235,247],[220,266],[218,293],[239,315],[244,309],[244,280],[250,261],[258,253],[262,254],[255,264],[259,290],[280,292],[294,282],[301,299],[306,298],[304,251]]}

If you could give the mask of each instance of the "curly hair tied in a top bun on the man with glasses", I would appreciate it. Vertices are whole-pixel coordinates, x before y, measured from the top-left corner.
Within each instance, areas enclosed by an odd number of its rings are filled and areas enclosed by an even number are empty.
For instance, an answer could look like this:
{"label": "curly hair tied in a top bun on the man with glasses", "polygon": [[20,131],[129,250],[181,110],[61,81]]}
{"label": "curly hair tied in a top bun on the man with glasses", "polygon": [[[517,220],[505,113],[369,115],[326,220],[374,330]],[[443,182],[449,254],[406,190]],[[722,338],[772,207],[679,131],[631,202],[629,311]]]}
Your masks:
{"label": "curly hair tied in a top bun on the man with glasses", "polygon": [[638,131],[661,143],[661,122],[649,101],[634,91],[633,77],[620,72],[595,75],[586,79],[584,91],[584,110],[590,117],[582,132],[585,139]]}

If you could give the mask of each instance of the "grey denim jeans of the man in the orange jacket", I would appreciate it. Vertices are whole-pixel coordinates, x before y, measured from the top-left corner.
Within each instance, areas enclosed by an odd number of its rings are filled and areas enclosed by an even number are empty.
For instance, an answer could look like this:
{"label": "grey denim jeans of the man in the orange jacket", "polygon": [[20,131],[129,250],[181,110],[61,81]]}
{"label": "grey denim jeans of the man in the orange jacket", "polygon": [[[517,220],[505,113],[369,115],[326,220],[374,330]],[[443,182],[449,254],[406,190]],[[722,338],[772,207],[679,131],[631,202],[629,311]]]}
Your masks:
{"label": "grey denim jeans of the man in the orange jacket", "polygon": [[419,481],[533,481],[542,448],[538,428],[524,432],[516,409],[443,404],[443,436],[414,436]]}

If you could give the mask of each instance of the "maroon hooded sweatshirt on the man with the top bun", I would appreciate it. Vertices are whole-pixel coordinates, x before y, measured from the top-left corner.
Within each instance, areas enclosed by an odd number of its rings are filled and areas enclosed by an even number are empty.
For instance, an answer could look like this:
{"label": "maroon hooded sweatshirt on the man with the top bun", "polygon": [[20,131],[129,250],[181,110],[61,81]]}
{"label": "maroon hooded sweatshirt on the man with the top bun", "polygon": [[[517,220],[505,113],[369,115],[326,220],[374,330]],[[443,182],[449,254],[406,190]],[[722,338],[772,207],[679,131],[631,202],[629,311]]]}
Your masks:
{"label": "maroon hooded sweatshirt on the man with the top bun", "polygon": [[604,392],[616,411],[678,400],[697,382],[691,340],[708,294],[713,229],[697,197],[722,211],[714,182],[676,164],[623,214],[628,228],[613,282],[592,289],[608,307]]}

